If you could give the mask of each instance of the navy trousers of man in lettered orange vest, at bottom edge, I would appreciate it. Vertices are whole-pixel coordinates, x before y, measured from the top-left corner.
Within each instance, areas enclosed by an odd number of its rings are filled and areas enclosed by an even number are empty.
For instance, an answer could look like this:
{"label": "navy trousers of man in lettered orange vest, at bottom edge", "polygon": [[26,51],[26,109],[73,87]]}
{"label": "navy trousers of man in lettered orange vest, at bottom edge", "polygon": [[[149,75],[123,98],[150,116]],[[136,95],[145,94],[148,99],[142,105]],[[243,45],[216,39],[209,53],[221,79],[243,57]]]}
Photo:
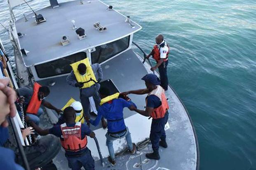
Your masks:
{"label": "navy trousers of man in lettered orange vest, at bottom edge", "polygon": [[[87,148],[88,149],[88,148]],[[85,154],[78,157],[68,157],[68,167],[72,170],[81,170],[82,166],[85,170],[94,170],[94,159],[90,149],[88,149]]]}

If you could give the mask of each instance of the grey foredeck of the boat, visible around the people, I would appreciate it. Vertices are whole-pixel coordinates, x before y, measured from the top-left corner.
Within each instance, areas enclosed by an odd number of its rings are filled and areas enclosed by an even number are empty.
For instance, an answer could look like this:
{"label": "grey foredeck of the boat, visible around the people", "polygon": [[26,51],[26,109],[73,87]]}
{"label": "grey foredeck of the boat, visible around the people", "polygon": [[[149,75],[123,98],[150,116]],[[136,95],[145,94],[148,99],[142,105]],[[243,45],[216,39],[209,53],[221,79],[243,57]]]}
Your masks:
{"label": "grey foredeck of the boat, visible around the people", "polygon": [[[145,85],[141,80],[141,77],[150,72],[149,65],[145,64],[145,67],[142,65],[141,58],[132,50],[122,53],[120,56],[102,65],[104,79],[111,78],[120,91],[144,88]],[[132,71],[135,70],[135,68],[136,72]],[[115,74],[113,74],[113,72]],[[59,79],[62,80],[61,78],[56,80]],[[52,92],[47,99],[58,107],[64,105],[63,102],[69,98],[69,94],[75,94],[75,96],[73,95],[75,99],[78,99],[79,95],[79,91],[74,87],[66,85],[64,80],[65,78],[51,87]],[[44,80],[40,83],[44,84],[47,82]],[[94,140],[88,138],[88,148],[92,151],[92,155],[96,161],[96,170],[196,170],[198,168],[197,139],[186,108],[171,88],[166,91],[166,95],[169,98],[170,105],[169,120],[166,126],[168,148],[164,149],[160,147],[159,151],[161,159],[159,161],[146,159],[145,154],[151,152],[151,145],[148,145],[145,149],[142,149],[135,155],[124,153],[117,156],[117,164],[115,167],[112,167],[107,160],[108,150],[105,144],[106,130],[99,126],[94,132],[98,138],[103,158],[105,158],[105,167],[102,167],[101,165]],[[138,108],[144,108],[145,96],[129,96],[134,103],[137,104]],[[124,116],[125,123],[131,132],[133,142],[138,143],[149,137],[151,120],[148,120],[147,117],[143,117],[139,114],[132,113],[128,109],[124,110]],[[113,145],[115,151],[120,152],[126,147],[126,142],[124,139],[116,140]],[[63,149],[61,149],[61,152],[59,152],[54,159],[54,163],[61,170],[69,169]]]}

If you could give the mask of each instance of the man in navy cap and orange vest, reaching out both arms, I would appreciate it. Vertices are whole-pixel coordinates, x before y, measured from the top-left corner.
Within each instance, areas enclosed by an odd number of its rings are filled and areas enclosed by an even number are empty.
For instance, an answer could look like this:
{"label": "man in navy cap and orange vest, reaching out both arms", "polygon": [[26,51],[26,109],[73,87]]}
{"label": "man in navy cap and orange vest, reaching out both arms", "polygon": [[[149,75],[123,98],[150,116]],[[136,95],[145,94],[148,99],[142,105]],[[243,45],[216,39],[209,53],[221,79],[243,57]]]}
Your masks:
{"label": "man in navy cap and orange vest, reaching out both arms", "polygon": [[123,92],[122,94],[148,94],[146,97],[146,110],[139,110],[135,107],[130,108],[130,110],[134,110],[143,116],[153,118],[150,129],[150,140],[153,153],[146,154],[146,157],[159,160],[159,145],[167,148],[164,125],[168,121],[169,106],[164,94],[164,89],[159,85],[160,80],[155,74],[147,74],[141,79],[145,81],[146,89]]}

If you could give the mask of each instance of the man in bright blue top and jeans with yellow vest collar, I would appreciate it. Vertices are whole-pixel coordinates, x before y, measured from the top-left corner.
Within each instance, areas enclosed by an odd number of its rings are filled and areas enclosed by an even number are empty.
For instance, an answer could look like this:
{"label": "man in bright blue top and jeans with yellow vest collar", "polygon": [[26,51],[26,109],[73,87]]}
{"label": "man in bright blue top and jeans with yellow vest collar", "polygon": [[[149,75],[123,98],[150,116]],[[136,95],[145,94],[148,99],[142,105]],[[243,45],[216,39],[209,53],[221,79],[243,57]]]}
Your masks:
{"label": "man in bright blue top and jeans with yellow vest collar", "polygon": [[[123,109],[130,108],[134,103],[125,101],[124,99],[117,99],[119,93],[110,96],[110,92],[106,88],[99,90],[101,96],[101,106],[98,109],[98,115],[95,120],[85,117],[87,122],[97,126],[101,117],[103,116],[108,120],[108,132],[106,133],[106,145],[110,155],[109,161],[112,166],[115,165],[115,151],[113,148],[113,141],[119,138],[126,138],[131,154],[136,151],[136,145],[132,143],[131,134],[128,127],[124,124]],[[135,105],[135,104],[134,104]]]}

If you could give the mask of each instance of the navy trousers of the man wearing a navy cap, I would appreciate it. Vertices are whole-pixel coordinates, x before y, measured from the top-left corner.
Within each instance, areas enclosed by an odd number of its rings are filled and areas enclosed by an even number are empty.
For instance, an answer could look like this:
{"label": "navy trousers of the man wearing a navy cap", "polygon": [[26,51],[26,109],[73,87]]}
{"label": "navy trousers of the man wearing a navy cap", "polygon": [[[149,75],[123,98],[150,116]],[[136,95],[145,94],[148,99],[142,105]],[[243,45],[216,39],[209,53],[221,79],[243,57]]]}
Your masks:
{"label": "navy trousers of the man wearing a navy cap", "polygon": [[165,113],[163,118],[153,119],[151,123],[150,129],[150,140],[152,144],[152,149],[154,152],[158,152],[159,149],[159,140],[165,141],[166,134],[164,131],[164,125],[168,122],[169,113]]}

